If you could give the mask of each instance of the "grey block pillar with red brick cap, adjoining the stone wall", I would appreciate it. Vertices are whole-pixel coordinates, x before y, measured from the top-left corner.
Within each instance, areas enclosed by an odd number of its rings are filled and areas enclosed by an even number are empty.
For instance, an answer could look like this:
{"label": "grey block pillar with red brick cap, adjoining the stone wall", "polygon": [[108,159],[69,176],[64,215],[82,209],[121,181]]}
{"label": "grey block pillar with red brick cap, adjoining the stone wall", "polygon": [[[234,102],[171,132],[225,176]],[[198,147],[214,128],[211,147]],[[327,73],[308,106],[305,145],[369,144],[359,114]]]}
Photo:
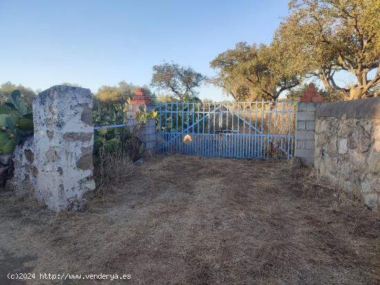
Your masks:
{"label": "grey block pillar with red brick cap, adjoining the stone wall", "polygon": [[296,153],[304,164],[314,164],[315,113],[321,106],[323,98],[316,90],[314,83],[298,102],[296,115]]}

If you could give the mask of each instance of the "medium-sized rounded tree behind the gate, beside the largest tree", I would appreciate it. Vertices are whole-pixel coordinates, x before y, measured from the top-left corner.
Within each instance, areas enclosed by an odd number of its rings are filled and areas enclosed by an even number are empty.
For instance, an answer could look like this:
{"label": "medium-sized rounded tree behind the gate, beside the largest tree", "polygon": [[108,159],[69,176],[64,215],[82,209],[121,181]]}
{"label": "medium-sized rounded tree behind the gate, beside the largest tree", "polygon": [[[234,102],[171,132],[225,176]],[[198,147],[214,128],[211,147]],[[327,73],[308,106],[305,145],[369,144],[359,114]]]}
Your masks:
{"label": "medium-sized rounded tree behind the gate, beside the largest tree", "polygon": [[233,50],[222,52],[211,61],[211,68],[218,70],[213,82],[237,101],[274,101],[283,91],[300,83],[299,75],[283,66],[282,57],[273,45],[237,43]]}

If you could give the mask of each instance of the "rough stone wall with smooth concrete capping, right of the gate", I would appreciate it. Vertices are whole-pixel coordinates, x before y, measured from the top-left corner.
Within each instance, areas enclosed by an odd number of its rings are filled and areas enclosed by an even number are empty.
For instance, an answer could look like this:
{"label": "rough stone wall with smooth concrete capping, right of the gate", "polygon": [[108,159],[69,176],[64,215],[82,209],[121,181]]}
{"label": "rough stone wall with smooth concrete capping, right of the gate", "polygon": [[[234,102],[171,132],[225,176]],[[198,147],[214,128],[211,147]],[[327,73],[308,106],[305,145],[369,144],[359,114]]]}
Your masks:
{"label": "rough stone wall with smooth concrete capping, right of the gate", "polygon": [[318,175],[379,208],[380,98],[323,104],[315,131]]}

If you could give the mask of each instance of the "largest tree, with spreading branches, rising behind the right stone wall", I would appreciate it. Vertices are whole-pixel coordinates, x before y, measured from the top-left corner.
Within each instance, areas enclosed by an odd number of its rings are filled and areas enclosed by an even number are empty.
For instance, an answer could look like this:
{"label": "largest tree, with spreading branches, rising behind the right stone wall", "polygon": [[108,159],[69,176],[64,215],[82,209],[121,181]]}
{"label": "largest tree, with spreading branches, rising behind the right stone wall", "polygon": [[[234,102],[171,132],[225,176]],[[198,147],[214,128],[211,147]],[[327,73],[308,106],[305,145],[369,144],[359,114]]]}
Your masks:
{"label": "largest tree, with spreading branches, rising behind the right stone wall", "polygon": [[[380,0],[292,0],[289,9],[274,37],[289,68],[320,79],[342,99],[379,96]],[[342,70],[356,80],[339,86]]]}

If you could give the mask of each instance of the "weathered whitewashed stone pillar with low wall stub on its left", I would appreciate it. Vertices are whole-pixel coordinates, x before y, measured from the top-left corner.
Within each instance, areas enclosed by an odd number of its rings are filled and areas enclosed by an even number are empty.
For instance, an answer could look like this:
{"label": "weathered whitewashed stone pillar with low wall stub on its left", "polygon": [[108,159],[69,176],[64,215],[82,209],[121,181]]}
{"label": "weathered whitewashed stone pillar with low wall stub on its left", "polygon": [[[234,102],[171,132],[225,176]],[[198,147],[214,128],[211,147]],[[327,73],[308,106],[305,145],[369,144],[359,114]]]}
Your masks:
{"label": "weathered whitewashed stone pillar with low wall stub on its left", "polygon": [[93,179],[93,100],[89,89],[53,86],[33,101],[34,137],[17,146],[8,187],[56,211],[84,208]]}

